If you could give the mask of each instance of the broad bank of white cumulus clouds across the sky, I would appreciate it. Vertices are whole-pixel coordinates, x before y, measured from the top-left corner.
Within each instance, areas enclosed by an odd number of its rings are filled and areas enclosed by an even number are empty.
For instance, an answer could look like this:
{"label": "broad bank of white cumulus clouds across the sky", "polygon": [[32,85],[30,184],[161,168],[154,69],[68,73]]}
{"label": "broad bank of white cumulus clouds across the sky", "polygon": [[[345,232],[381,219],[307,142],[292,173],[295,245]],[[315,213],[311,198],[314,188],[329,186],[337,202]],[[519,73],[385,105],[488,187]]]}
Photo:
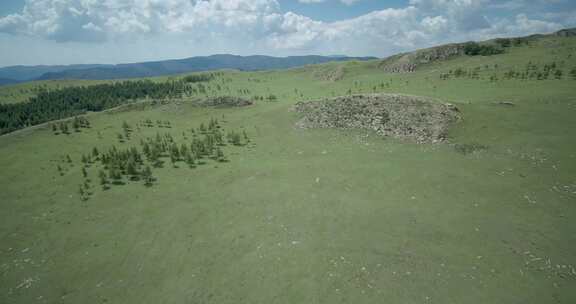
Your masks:
{"label": "broad bank of white cumulus clouds across the sky", "polygon": [[[193,43],[208,51],[385,56],[454,40],[550,32],[566,26],[551,13],[539,18],[523,12],[524,1],[410,0],[403,8],[322,22],[283,12],[277,0],[27,0],[22,12],[0,18],[0,32],[57,42],[177,37],[174,40],[185,41],[183,47]],[[509,7],[509,17],[490,13],[503,7]],[[574,14],[563,16],[562,20],[576,22]]]}

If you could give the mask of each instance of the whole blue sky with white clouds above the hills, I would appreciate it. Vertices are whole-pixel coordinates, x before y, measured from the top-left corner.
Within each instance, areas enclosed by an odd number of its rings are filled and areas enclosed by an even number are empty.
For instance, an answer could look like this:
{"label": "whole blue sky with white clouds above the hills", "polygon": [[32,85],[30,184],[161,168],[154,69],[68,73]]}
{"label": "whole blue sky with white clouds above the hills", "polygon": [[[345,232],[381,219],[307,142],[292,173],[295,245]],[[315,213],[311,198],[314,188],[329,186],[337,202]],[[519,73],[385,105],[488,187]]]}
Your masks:
{"label": "whole blue sky with white clouds above the hills", "polygon": [[386,57],[569,27],[575,0],[0,0],[0,66]]}

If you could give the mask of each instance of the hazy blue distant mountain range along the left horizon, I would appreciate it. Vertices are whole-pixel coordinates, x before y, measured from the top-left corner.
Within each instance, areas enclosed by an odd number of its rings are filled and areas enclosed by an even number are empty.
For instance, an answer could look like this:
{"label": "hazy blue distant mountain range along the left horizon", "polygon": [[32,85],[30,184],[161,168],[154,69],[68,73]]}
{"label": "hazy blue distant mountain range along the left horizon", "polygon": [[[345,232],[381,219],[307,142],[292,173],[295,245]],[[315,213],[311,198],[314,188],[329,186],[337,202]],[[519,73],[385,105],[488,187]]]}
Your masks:
{"label": "hazy blue distant mountain range along the left horizon", "polygon": [[375,57],[346,56],[236,56],[212,55],[178,60],[128,64],[79,64],[54,66],[11,66],[0,68],[0,85],[49,79],[123,79],[153,77],[221,69],[241,71],[276,70],[332,61],[371,60]]}

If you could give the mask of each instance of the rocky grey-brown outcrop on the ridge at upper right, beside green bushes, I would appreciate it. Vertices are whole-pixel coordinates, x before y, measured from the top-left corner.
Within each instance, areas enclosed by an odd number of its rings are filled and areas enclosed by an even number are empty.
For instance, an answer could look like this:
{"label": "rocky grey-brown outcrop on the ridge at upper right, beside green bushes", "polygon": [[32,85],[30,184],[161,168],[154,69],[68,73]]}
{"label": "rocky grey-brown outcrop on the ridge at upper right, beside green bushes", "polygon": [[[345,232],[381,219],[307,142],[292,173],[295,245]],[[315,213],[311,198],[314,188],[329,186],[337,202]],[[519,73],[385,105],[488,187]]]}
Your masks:
{"label": "rocky grey-brown outcrop on the ridge at upper right, beside green bushes", "polygon": [[464,44],[448,44],[392,56],[384,59],[379,66],[387,73],[409,73],[414,72],[420,65],[448,60],[463,54]]}

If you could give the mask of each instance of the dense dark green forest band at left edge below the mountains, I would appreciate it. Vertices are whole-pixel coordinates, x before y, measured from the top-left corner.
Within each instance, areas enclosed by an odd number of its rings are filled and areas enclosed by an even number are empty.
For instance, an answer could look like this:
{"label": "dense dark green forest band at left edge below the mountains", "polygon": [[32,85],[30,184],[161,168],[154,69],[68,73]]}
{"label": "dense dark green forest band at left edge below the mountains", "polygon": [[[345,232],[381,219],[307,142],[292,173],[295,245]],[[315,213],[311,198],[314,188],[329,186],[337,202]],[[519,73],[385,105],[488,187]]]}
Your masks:
{"label": "dense dark green forest band at left edge below the mountains", "polygon": [[0,134],[87,111],[102,111],[137,99],[177,98],[187,89],[183,81],[149,80],[43,89],[28,102],[0,105]]}

